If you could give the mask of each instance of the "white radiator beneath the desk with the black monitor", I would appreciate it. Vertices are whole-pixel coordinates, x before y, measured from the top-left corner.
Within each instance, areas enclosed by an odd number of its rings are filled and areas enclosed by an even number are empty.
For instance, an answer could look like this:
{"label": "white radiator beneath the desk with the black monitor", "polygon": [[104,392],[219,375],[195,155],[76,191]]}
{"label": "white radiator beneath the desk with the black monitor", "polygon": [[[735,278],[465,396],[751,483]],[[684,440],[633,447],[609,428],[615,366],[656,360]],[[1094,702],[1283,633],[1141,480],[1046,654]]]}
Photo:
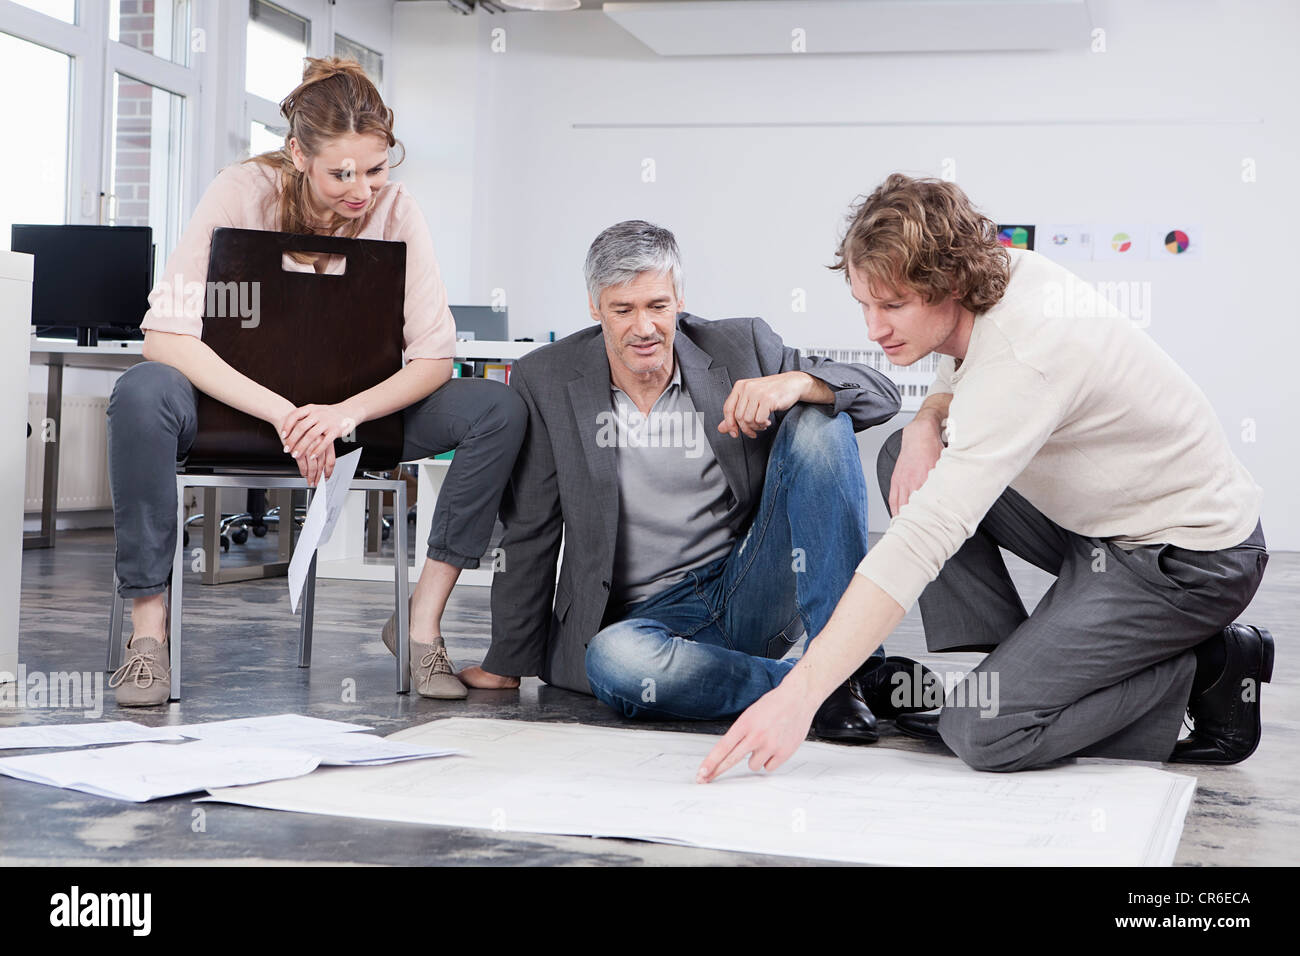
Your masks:
{"label": "white radiator beneath the desk with the black monitor", "polygon": [[[87,511],[113,506],[108,490],[107,395],[64,395],[58,438],[58,510]],[[29,393],[27,471],[23,511],[40,511],[46,475],[44,393]]]}

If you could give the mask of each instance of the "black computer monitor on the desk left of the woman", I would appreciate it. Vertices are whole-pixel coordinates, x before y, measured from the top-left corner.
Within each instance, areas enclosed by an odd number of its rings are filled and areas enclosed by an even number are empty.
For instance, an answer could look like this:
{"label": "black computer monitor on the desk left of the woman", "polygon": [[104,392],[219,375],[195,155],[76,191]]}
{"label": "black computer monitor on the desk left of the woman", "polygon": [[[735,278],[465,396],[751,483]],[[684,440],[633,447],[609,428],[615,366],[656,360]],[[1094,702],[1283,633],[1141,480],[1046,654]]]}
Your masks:
{"label": "black computer monitor on the desk left of the woman", "polygon": [[40,336],[96,345],[139,338],[153,285],[148,226],[14,224],[10,248],[34,255],[31,324]]}

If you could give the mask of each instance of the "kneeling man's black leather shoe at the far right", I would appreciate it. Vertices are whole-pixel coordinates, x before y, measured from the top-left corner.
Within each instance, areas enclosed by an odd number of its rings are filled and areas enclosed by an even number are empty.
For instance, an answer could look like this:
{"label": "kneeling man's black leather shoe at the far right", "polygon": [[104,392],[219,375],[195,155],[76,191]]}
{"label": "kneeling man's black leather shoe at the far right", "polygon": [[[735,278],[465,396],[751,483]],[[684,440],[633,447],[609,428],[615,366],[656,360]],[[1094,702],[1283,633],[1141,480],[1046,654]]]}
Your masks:
{"label": "kneeling man's black leather shoe at the far right", "polygon": [[1223,670],[1187,702],[1192,732],[1174,744],[1170,763],[1239,763],[1260,745],[1260,685],[1273,679],[1273,635],[1228,624],[1210,640],[1223,641]]}

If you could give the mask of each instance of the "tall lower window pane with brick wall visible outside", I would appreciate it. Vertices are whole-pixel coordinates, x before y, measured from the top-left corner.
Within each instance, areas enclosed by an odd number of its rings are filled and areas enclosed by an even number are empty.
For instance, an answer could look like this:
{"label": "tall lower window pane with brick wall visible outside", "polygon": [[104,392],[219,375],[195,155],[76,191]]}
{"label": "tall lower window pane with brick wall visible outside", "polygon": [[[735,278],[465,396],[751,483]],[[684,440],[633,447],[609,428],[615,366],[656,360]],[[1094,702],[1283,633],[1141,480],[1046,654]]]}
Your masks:
{"label": "tall lower window pane with brick wall visible outside", "polygon": [[109,225],[152,226],[155,274],[179,238],[185,98],[113,74]]}

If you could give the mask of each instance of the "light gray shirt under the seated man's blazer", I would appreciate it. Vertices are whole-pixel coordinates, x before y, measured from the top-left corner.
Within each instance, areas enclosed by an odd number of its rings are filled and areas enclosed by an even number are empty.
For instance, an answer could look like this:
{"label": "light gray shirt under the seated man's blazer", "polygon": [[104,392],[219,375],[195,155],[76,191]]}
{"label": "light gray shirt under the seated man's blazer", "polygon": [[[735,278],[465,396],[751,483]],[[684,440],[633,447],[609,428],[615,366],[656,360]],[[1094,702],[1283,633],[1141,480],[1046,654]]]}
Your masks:
{"label": "light gray shirt under the seated man's blazer", "polygon": [[[611,384],[610,418],[598,441],[619,462],[619,535],[611,597],[645,601],[686,572],[727,554],[736,535],[723,522],[731,489],[675,362],[672,381],[642,415]],[[734,441],[734,438],[727,438]]]}

